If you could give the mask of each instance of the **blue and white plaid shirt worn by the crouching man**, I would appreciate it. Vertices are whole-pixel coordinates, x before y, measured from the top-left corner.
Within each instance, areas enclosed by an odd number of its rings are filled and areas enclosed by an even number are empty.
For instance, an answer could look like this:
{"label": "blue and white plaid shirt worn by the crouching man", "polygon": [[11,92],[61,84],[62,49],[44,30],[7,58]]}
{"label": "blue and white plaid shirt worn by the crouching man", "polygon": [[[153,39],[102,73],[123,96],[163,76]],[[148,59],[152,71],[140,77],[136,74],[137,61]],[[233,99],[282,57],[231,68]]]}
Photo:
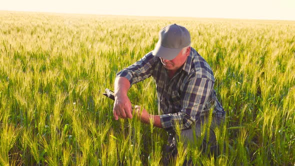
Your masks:
{"label": "blue and white plaid shirt worn by the crouching man", "polygon": [[216,98],[214,76],[209,64],[191,48],[182,68],[169,79],[166,68],[152,51],[140,60],[119,71],[116,76],[127,78],[132,85],[152,76],[156,83],[158,111],[162,127],[189,129],[202,115],[207,115],[211,107],[215,116],[225,112]]}

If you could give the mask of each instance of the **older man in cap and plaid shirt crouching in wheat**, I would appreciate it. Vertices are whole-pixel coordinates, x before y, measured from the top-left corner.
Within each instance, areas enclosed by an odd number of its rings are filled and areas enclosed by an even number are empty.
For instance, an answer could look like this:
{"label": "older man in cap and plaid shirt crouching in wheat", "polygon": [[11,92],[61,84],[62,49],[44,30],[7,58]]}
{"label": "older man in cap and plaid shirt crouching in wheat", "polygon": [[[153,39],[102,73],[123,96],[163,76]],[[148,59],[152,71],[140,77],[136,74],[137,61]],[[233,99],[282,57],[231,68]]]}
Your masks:
{"label": "older man in cap and plaid shirt crouching in wheat", "polygon": [[149,114],[145,109],[136,115],[141,122],[152,122],[169,133],[168,156],[177,153],[175,125],[180,127],[182,137],[193,141],[193,137],[200,137],[201,126],[208,121],[210,109],[213,117],[209,138],[204,138],[202,144],[215,144],[213,129],[224,120],[225,112],[213,89],[212,69],[190,46],[190,34],[185,27],[175,23],[163,27],[154,50],[116,74],[113,105],[116,120],[132,118],[127,91],[132,84],[149,76],[156,83],[159,115]]}

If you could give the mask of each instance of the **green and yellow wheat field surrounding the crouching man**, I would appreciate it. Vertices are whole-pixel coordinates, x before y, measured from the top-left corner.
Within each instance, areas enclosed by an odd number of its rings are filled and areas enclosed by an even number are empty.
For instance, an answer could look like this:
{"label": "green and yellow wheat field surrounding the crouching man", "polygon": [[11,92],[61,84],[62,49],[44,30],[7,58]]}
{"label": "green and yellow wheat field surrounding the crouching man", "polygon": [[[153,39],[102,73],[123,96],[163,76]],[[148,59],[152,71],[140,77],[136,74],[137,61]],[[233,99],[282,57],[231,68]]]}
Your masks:
{"label": "green and yellow wheat field surrounding the crouching man", "polygon": [[[203,165],[295,164],[295,22],[0,11],[0,165],[158,165],[166,133],[114,120],[115,73],[152,50],[161,27],[185,26],[211,65],[226,110]],[[131,101],[157,114],[151,78]],[[204,133],[204,132],[203,132]]]}

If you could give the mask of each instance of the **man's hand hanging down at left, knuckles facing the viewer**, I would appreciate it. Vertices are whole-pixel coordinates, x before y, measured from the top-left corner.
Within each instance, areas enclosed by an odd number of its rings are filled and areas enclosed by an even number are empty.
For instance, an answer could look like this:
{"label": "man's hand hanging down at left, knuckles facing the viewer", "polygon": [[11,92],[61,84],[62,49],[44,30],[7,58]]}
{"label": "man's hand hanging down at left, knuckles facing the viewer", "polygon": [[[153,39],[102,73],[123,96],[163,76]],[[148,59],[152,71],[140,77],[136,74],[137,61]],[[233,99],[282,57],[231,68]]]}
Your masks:
{"label": "man's hand hanging down at left, knuckles facing the viewer", "polygon": [[132,118],[131,102],[127,95],[115,95],[113,104],[113,116],[114,119],[120,118]]}

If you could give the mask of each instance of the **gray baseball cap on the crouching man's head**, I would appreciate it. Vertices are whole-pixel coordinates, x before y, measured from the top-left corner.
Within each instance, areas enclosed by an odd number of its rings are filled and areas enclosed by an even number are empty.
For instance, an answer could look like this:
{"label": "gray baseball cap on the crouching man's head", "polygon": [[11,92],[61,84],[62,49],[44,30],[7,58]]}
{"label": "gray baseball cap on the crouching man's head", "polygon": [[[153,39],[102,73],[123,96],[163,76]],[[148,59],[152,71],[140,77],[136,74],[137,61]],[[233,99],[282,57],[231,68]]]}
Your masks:
{"label": "gray baseball cap on the crouching man's head", "polygon": [[152,54],[163,59],[172,60],[180,50],[190,44],[188,30],[180,25],[169,24],[159,32],[159,40],[156,43]]}

